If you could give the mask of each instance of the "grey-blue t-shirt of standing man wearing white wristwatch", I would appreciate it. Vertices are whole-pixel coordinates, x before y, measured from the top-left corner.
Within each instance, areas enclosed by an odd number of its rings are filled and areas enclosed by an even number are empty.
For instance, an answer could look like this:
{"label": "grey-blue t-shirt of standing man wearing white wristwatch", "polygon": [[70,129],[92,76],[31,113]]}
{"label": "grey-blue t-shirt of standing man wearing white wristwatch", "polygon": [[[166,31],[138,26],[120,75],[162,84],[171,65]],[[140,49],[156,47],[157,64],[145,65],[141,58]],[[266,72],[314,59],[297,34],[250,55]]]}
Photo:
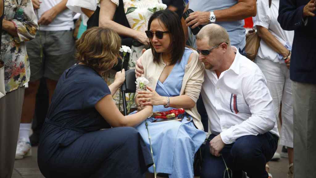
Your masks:
{"label": "grey-blue t-shirt of standing man wearing white wristwatch", "polygon": [[[213,11],[228,9],[233,5],[237,4],[238,0],[190,0],[189,9],[193,11]],[[230,21],[230,22],[216,22],[216,24],[224,27],[229,35],[231,45],[238,49],[243,49],[246,45],[246,30],[244,28],[244,20]],[[195,36],[190,38],[193,39],[193,47],[196,47]],[[223,41],[224,42],[224,41]],[[192,45],[192,44],[191,44]]]}

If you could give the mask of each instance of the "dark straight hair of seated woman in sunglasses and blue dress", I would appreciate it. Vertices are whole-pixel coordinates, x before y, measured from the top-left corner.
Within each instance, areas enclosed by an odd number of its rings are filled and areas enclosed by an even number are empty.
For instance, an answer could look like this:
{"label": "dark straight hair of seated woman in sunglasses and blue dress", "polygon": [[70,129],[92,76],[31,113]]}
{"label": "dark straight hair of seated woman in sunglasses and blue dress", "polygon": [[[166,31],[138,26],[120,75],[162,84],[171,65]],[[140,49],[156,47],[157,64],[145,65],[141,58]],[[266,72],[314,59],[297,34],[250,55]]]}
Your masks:
{"label": "dark straight hair of seated woman in sunglasses and blue dress", "polygon": [[[155,12],[148,21],[148,30],[150,30],[151,22],[158,19],[165,25],[170,33],[171,39],[169,48],[171,48],[171,62],[170,65],[175,64],[182,59],[185,49],[185,36],[179,16],[171,10],[160,10]],[[160,53],[155,51],[155,48],[150,43],[151,52],[154,56],[154,62],[160,63]]]}

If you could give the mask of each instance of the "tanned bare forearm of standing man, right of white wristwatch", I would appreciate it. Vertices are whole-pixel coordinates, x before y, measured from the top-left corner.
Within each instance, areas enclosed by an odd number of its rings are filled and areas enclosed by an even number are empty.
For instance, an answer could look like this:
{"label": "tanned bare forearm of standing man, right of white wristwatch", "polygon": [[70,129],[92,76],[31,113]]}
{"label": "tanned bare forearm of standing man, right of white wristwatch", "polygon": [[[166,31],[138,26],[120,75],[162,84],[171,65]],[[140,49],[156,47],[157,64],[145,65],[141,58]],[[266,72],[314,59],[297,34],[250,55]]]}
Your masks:
{"label": "tanned bare forearm of standing man, right of white wristwatch", "polygon": [[234,6],[223,9],[214,10],[214,15],[216,16],[216,22],[221,21],[237,21],[243,20],[247,17],[256,16],[257,5],[255,0],[238,2]]}

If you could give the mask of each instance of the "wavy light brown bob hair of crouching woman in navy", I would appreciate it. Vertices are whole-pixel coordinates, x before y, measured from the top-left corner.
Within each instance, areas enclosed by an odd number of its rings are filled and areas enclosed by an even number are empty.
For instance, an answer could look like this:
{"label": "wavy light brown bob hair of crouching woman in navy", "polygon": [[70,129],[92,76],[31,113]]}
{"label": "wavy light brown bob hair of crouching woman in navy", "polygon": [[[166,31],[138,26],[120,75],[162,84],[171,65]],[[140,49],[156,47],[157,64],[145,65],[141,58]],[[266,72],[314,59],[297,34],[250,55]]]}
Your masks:
{"label": "wavy light brown bob hair of crouching woman in navy", "polygon": [[106,72],[118,62],[121,38],[112,29],[93,27],[76,41],[76,59],[96,71]]}

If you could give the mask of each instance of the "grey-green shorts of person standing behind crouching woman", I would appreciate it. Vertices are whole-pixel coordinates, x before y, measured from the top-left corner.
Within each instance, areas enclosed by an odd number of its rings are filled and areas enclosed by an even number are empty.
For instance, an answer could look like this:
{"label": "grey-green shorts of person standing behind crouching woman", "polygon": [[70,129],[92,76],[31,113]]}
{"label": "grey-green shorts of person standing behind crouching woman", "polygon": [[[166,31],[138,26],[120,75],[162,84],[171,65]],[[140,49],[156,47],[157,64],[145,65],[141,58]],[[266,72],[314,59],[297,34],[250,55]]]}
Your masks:
{"label": "grey-green shorts of person standing behind crouching woman", "polygon": [[26,42],[31,82],[42,77],[58,81],[61,74],[75,63],[72,35],[73,30],[37,31],[35,39]]}

